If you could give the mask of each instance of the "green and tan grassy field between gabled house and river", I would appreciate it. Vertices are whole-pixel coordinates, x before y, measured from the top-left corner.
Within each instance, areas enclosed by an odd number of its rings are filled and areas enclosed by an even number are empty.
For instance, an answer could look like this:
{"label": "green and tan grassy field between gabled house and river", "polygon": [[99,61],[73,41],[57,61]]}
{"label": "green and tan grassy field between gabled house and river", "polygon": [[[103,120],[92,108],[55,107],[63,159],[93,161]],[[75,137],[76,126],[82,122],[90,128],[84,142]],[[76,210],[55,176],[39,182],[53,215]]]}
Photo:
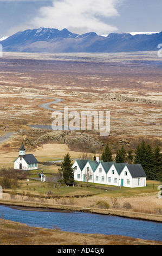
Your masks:
{"label": "green and tan grassy field between gabled house and river", "polygon": [[157,197],[158,181],[148,180],[146,187],[121,189],[114,189],[113,186],[107,189],[106,186],[104,188],[99,184],[98,188],[86,187],[84,182],[74,187],[60,187],[53,182],[41,182],[30,178],[19,181],[19,185],[16,190],[3,190],[0,204],[67,210],[86,208],[100,214],[105,214],[108,210],[113,211],[113,214],[116,214],[116,211],[117,215],[130,217],[138,213],[143,214],[144,219],[162,221],[162,200]]}

